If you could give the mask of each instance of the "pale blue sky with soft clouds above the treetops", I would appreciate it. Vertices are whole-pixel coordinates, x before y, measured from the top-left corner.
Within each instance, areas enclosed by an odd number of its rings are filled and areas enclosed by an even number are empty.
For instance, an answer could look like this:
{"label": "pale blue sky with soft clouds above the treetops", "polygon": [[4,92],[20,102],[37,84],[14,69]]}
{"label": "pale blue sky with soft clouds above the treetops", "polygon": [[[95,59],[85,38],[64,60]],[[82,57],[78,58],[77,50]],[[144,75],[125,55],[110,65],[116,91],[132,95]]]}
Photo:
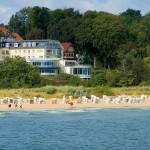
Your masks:
{"label": "pale blue sky with soft clouds above the treetops", "polygon": [[150,12],[150,0],[0,0],[0,24],[8,24],[10,17],[24,7],[74,8],[80,13],[87,10],[120,14],[128,8],[140,10],[142,15]]}

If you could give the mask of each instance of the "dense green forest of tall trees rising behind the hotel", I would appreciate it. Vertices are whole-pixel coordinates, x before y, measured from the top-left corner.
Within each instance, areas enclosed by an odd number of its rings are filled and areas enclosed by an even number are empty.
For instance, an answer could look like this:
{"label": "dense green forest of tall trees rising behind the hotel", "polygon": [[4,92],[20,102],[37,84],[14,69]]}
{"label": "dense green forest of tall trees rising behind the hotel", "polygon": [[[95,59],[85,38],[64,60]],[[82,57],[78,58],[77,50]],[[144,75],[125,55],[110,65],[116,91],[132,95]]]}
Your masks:
{"label": "dense green forest of tall trees rising behind the hotel", "polygon": [[73,8],[27,7],[6,27],[24,39],[71,42],[94,66],[90,86],[150,85],[150,13],[127,9],[118,15]]}

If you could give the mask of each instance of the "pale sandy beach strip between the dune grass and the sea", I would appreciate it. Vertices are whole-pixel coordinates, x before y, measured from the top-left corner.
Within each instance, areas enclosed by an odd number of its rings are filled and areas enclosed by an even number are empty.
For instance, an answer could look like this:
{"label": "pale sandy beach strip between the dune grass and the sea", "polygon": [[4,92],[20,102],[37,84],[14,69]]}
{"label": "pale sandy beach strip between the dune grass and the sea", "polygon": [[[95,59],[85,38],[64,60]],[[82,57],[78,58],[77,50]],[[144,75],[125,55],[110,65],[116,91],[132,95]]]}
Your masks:
{"label": "pale sandy beach strip between the dune grass and the sea", "polygon": [[[88,102],[88,103],[77,103],[76,100],[73,101],[73,108],[136,108],[136,107],[150,107],[150,101],[144,101],[141,103],[120,103],[107,104],[105,101],[100,100],[98,103]],[[62,100],[58,100],[56,104],[52,104],[52,100],[46,100],[45,103],[39,104],[29,104],[27,102],[22,103],[22,108],[15,108],[15,105],[12,103],[11,108],[8,108],[7,104],[0,105],[0,110],[34,110],[34,109],[70,109],[72,108],[69,104],[65,104]]]}

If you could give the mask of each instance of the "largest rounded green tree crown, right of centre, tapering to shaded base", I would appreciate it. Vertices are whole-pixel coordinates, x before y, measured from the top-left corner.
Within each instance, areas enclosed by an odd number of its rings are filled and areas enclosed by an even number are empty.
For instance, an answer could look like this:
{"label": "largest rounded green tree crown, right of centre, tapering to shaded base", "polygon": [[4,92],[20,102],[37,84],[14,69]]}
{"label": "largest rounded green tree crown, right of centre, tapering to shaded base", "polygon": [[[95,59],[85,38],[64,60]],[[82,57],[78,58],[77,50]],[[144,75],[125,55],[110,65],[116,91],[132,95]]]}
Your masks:
{"label": "largest rounded green tree crown, right of centre, tapering to shaded base", "polygon": [[92,44],[96,56],[104,68],[113,68],[116,63],[119,45],[126,42],[127,28],[122,18],[108,13],[101,13],[93,23]]}

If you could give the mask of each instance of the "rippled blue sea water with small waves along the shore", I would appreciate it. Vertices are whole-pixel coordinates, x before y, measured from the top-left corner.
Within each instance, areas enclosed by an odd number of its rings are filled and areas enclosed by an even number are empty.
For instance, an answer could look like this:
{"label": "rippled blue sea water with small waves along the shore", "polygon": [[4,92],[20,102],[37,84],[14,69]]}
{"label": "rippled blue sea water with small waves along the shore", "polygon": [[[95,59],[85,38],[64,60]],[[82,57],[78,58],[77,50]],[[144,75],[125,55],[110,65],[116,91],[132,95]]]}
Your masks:
{"label": "rippled blue sea water with small waves along the shore", "polygon": [[0,150],[149,149],[149,108],[0,111]]}

